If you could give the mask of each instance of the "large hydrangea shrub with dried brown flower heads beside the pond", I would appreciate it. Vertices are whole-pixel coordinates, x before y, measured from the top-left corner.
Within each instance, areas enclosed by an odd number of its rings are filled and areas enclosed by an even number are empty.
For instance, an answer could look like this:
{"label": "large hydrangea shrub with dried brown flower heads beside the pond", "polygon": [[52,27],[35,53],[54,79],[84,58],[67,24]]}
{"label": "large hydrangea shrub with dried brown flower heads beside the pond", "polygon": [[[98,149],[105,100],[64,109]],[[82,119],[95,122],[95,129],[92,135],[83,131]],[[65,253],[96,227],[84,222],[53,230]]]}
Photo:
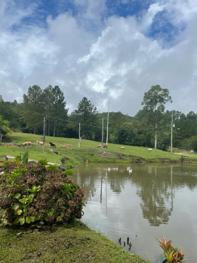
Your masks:
{"label": "large hydrangea shrub with dried brown flower heads beside the pond", "polygon": [[73,171],[62,172],[56,165],[47,169],[43,160],[22,165],[18,159],[0,169],[1,224],[52,224],[81,218],[83,190],[69,177]]}

